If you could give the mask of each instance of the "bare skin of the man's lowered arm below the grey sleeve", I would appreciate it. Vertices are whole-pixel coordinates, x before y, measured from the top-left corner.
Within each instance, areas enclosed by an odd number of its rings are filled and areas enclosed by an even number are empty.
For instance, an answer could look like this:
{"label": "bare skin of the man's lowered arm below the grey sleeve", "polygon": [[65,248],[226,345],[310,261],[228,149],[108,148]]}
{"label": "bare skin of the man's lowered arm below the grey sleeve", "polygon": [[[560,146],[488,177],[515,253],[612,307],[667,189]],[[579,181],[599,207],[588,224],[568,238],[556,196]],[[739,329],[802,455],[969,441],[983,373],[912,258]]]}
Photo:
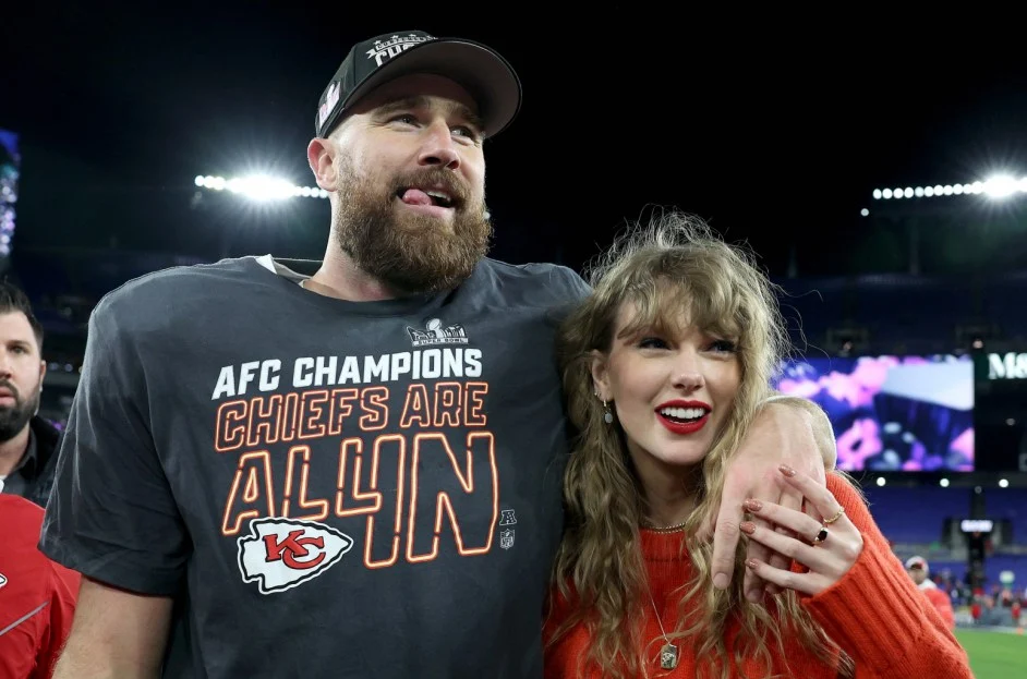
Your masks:
{"label": "bare skin of the man's lowered arm below the grey sleeve", "polygon": [[143,596],[82,579],[71,635],[53,679],[156,679],[172,599]]}

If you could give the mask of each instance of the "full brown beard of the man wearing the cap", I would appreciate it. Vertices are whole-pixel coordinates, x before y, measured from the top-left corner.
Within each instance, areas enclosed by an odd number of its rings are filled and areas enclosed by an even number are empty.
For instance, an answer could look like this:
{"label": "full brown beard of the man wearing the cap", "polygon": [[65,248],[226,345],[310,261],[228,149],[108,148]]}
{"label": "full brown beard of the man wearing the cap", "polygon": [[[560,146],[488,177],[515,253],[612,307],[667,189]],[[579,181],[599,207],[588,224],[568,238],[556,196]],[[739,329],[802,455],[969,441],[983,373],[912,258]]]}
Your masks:
{"label": "full brown beard of the man wearing the cap", "polygon": [[[410,186],[443,187],[452,197],[452,231],[438,218],[398,214],[396,202]],[[395,178],[383,193],[343,160],[337,191],[336,239],[365,274],[395,292],[449,290],[467,280],[488,252],[492,238],[483,201],[470,202],[467,186],[442,168]],[[401,209],[401,208],[400,208]]]}

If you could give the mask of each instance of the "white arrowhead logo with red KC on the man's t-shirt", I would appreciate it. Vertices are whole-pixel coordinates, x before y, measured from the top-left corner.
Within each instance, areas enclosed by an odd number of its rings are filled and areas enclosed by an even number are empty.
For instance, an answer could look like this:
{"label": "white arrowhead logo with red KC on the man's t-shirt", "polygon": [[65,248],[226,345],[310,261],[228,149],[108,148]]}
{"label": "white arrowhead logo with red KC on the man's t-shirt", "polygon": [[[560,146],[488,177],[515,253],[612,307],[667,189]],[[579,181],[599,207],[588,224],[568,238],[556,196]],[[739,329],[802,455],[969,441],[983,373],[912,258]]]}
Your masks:
{"label": "white arrowhead logo with red KC on the man's t-shirt", "polygon": [[353,546],[349,535],[316,521],[254,519],[239,538],[243,582],[261,594],[285,592],[322,574]]}

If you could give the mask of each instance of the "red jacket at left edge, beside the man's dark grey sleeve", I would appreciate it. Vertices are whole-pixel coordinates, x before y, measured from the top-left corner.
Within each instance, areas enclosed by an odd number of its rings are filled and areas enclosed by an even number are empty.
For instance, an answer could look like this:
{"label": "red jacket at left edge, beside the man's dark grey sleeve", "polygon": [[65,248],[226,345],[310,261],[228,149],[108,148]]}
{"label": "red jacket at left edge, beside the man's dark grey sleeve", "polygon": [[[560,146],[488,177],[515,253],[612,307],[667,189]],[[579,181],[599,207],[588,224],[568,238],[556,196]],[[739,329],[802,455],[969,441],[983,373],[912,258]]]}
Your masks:
{"label": "red jacket at left edge, beside the man's dark grey sleeve", "polygon": [[68,638],[78,573],[36,547],[43,508],[0,494],[0,677],[49,679]]}

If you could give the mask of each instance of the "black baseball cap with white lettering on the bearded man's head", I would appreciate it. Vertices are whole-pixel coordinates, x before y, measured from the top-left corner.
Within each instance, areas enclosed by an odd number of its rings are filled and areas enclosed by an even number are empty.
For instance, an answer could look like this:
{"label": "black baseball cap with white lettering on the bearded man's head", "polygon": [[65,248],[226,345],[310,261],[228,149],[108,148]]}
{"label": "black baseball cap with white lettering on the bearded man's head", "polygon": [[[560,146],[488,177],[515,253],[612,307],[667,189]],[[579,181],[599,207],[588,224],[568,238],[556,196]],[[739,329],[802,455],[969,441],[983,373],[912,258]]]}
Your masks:
{"label": "black baseball cap with white lettering on the bearded man's head", "polygon": [[521,106],[521,83],[506,59],[463,38],[436,38],[423,31],[388,33],[350,50],[317,104],[314,131],[326,137],[350,108],[375,87],[410,73],[434,73],[468,90],[478,102],[485,134],[502,132]]}

